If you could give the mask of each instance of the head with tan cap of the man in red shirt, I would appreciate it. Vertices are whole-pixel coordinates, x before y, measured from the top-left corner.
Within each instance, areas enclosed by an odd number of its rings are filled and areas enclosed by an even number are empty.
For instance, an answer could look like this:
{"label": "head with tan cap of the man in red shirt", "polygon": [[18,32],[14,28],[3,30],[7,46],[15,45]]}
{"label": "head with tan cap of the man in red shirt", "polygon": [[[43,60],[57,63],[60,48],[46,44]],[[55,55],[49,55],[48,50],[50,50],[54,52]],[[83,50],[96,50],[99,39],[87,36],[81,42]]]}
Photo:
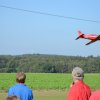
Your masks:
{"label": "head with tan cap of the man in red shirt", "polygon": [[75,67],[72,71],[73,81],[75,80],[83,80],[84,79],[84,71],[80,67]]}

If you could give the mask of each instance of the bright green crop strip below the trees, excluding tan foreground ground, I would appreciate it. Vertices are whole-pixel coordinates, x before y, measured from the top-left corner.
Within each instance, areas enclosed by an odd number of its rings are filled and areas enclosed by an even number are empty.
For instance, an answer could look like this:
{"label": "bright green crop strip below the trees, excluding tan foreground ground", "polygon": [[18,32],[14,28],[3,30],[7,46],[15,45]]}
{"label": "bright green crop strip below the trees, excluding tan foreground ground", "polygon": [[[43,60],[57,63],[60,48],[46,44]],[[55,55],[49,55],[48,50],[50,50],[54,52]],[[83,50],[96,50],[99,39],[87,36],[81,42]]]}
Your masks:
{"label": "bright green crop strip below the trees, excluding tan foreground ground", "polygon": [[[27,73],[26,84],[33,90],[68,90],[71,74]],[[85,83],[92,90],[100,89],[100,74],[85,74]],[[0,73],[0,91],[16,84],[14,73]]]}

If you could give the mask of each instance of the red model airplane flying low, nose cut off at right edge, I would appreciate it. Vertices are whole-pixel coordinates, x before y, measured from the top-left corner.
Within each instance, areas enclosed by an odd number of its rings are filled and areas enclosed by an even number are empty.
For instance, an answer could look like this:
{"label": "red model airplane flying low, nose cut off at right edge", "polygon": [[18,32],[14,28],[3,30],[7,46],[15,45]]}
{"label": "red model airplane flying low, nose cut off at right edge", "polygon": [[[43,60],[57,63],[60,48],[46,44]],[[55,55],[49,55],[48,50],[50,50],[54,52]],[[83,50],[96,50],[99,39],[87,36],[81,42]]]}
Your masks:
{"label": "red model airplane flying low, nose cut off at right edge", "polygon": [[89,45],[89,44],[91,44],[93,42],[96,42],[97,40],[100,40],[100,35],[95,35],[95,34],[87,34],[87,35],[85,35],[81,31],[78,31],[78,35],[79,36],[76,38],[76,40],[79,39],[79,38],[84,38],[84,39],[91,40],[86,45]]}

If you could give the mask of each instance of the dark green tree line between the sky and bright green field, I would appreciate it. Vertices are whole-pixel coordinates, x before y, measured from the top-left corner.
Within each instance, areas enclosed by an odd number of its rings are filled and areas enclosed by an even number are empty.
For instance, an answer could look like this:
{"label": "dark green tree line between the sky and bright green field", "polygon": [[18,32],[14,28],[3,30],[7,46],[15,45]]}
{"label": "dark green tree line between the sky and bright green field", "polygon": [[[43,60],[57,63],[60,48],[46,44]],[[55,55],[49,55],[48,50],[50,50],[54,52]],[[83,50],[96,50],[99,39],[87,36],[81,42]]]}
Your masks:
{"label": "dark green tree line between the sky and bright green field", "polygon": [[100,72],[100,56],[62,56],[45,54],[0,55],[0,73],[70,73],[74,67],[87,73]]}

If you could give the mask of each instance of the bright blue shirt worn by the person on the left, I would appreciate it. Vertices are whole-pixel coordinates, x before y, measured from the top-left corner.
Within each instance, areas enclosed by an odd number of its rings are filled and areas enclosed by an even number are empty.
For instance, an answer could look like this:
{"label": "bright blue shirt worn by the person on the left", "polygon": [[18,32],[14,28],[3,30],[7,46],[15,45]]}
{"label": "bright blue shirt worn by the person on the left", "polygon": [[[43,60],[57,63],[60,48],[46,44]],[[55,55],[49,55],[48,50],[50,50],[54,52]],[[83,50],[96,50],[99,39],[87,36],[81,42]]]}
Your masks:
{"label": "bright blue shirt worn by the person on the left", "polygon": [[18,96],[20,100],[33,100],[32,90],[25,84],[16,84],[8,91],[8,96]]}

